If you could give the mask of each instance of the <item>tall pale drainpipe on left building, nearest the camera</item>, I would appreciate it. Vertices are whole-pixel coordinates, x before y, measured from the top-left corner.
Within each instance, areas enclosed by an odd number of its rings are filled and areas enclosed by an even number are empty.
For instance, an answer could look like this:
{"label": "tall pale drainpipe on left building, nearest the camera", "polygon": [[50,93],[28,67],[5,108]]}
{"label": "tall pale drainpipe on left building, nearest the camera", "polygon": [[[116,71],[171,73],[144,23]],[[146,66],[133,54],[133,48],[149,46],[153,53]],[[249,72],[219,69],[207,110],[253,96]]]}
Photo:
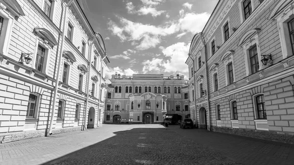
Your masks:
{"label": "tall pale drainpipe on left building, nearest the camera", "polygon": [[58,69],[57,69],[57,76],[55,81],[55,87],[54,87],[54,96],[53,96],[53,105],[52,105],[52,113],[51,113],[51,119],[50,119],[50,125],[49,125],[49,135],[52,135],[52,126],[53,126],[53,118],[55,114],[55,106],[56,106],[56,97],[58,92],[58,84],[59,84],[59,78],[60,78],[60,68],[61,68],[61,58],[62,58],[62,51],[63,51],[63,45],[64,45],[64,38],[65,38],[65,25],[67,23],[67,10],[69,6],[73,3],[73,0],[70,0],[66,6],[65,6],[65,14],[64,14],[64,23],[63,23],[63,29],[62,29],[62,39],[61,39],[61,46],[60,46],[60,53],[58,58]]}

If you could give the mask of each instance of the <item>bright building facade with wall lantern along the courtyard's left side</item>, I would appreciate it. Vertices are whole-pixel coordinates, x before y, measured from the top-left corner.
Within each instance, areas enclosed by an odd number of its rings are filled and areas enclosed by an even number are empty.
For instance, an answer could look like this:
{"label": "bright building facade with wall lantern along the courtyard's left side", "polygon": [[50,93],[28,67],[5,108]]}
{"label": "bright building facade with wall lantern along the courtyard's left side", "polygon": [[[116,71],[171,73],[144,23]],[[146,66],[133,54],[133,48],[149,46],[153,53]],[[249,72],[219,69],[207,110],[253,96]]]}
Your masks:
{"label": "bright building facade with wall lantern along the courtyard's left side", "polygon": [[106,49],[76,0],[0,0],[0,142],[98,127]]}

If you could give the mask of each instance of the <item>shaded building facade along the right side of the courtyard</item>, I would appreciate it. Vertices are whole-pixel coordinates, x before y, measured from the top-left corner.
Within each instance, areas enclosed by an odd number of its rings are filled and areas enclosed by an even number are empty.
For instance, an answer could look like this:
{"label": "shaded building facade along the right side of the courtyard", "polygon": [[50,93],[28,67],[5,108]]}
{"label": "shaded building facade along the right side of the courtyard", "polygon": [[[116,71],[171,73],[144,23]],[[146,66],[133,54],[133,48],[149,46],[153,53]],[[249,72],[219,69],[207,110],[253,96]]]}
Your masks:
{"label": "shaded building facade along the right side of the courtyard", "polygon": [[293,5],[218,2],[186,61],[198,128],[294,142]]}

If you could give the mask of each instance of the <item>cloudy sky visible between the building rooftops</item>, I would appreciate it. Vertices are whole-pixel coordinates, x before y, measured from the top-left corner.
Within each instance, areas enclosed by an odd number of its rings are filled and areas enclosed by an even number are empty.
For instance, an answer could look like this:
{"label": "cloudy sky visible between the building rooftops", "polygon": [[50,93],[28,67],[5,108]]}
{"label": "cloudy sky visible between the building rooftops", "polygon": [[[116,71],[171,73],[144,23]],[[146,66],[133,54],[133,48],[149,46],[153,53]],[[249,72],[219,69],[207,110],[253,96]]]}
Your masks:
{"label": "cloudy sky visible between the building rooftops", "polygon": [[185,75],[193,36],[218,0],[78,0],[104,41],[112,74]]}

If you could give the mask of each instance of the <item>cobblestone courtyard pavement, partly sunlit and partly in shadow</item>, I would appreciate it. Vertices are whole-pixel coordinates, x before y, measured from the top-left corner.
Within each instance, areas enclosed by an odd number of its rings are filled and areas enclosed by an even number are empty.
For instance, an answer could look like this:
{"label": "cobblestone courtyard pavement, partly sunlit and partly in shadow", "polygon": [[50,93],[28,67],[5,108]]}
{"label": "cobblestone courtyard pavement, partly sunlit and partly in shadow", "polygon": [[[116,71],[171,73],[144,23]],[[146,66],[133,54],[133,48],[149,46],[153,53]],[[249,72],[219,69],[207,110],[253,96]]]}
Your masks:
{"label": "cobblestone courtyard pavement, partly sunlit and partly in shadow", "polygon": [[0,165],[293,165],[294,145],[170,125],[104,124],[0,144]]}

